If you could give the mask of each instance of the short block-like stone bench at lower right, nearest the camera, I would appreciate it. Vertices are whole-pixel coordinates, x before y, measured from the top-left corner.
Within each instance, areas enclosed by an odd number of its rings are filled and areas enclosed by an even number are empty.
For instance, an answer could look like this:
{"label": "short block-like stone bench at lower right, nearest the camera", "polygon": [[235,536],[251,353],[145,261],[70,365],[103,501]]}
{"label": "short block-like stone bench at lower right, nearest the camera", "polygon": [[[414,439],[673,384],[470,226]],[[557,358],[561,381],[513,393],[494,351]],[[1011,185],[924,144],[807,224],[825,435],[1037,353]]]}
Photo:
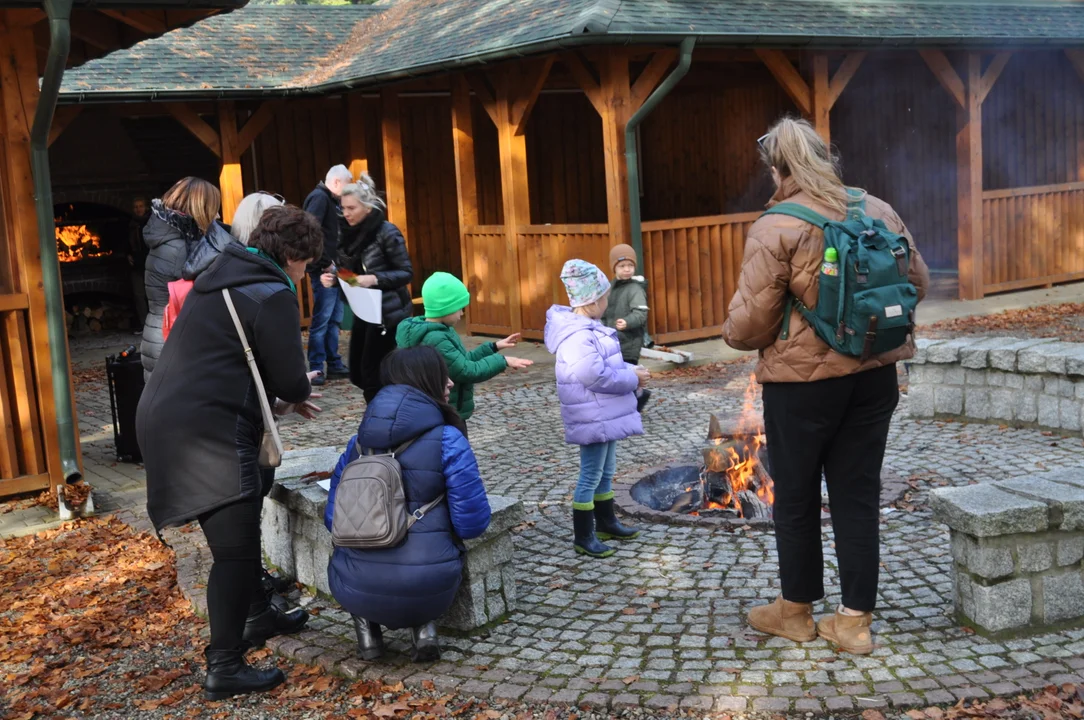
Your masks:
{"label": "short block-like stone bench at lower right, nearest the camera", "polygon": [[960,623],[985,635],[1084,621],[1084,468],[931,491]]}

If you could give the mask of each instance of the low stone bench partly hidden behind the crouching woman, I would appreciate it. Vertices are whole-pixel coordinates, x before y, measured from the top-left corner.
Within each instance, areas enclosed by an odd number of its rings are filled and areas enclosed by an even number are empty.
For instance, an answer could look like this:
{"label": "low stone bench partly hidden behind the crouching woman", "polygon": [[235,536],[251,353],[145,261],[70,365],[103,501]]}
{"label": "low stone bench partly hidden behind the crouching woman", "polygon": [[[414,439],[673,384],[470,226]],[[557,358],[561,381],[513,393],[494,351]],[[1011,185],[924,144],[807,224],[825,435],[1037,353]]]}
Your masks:
{"label": "low stone bench partly hidden behind the crouching woman", "polygon": [[[340,450],[319,448],[286,452],[275,485],[263,502],[263,551],[268,563],[312,592],[331,596],[327,561],[331,532],[324,527],[327,491],[313,472],[330,472]],[[463,582],[451,609],[438,625],[470,632],[503,620],[516,608],[512,529],[524,520],[519,500],[489,496],[492,519],[481,537],[464,541]]]}

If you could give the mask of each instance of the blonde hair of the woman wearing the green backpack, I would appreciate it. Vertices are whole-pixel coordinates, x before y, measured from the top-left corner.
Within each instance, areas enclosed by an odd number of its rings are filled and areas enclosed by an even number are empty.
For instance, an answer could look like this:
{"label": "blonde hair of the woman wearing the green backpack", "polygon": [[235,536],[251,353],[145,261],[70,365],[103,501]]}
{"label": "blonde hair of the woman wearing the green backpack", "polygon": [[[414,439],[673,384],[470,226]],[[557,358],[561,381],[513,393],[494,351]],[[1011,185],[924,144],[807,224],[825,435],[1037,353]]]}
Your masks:
{"label": "blonde hair of the woman wearing the green backpack", "polygon": [[821,205],[847,213],[847,188],[839,178],[839,158],[808,120],[784,117],[760,143],[764,164],[774,167]]}

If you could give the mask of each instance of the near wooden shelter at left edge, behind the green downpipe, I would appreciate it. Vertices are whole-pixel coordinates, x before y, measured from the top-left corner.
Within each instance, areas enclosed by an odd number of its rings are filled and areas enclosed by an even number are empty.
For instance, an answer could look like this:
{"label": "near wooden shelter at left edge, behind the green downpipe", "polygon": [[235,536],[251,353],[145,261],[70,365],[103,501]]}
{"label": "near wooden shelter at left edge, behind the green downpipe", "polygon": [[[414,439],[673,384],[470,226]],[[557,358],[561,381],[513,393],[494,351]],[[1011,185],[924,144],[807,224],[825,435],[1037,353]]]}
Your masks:
{"label": "near wooden shelter at left edge, behind the green downpipe", "polygon": [[[77,2],[70,14],[68,65],[238,4]],[[39,78],[49,49],[41,4],[0,0],[0,496],[49,488],[64,478],[51,352],[62,353],[67,364],[67,347],[51,347],[47,329],[42,263],[55,263],[56,255],[40,253],[30,159]],[[56,132],[70,113],[59,113]],[[75,443],[77,451],[77,437]],[[77,454],[68,462],[78,465]]]}

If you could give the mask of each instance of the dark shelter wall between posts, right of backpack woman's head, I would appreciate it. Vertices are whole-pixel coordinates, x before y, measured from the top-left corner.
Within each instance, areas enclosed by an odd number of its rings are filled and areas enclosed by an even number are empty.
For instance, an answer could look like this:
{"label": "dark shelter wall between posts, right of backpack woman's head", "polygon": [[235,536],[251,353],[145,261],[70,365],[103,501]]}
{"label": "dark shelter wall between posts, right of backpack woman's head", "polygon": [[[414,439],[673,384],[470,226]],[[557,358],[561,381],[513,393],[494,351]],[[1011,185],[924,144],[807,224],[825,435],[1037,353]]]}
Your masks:
{"label": "dark shelter wall between posts, right of backpack woman's head", "polygon": [[843,181],[899,213],[931,268],[956,269],[956,106],[916,52],[870,53],[831,110]]}

